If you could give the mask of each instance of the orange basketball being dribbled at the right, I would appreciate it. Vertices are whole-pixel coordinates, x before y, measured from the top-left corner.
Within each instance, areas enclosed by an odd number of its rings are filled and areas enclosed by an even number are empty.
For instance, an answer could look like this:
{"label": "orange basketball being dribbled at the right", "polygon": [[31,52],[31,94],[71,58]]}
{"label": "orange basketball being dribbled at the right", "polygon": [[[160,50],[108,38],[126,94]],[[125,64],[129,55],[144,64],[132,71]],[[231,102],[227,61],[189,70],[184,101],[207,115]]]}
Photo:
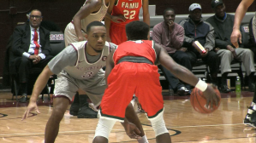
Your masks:
{"label": "orange basketball being dribbled at the right", "polygon": [[[221,95],[220,95],[219,90],[217,88],[214,89],[214,90],[216,91],[216,94],[219,97],[219,99],[221,99]],[[191,106],[193,106],[193,109],[196,112],[207,114],[207,113],[211,113],[211,112],[214,112],[215,110],[217,110],[218,106],[220,105],[220,100],[219,100],[217,106],[215,106],[215,103],[213,103],[212,109],[207,108],[206,107],[205,95],[199,89],[194,88],[192,90],[191,94],[190,94],[190,103],[191,103]],[[209,106],[211,106],[211,102],[209,103]]]}

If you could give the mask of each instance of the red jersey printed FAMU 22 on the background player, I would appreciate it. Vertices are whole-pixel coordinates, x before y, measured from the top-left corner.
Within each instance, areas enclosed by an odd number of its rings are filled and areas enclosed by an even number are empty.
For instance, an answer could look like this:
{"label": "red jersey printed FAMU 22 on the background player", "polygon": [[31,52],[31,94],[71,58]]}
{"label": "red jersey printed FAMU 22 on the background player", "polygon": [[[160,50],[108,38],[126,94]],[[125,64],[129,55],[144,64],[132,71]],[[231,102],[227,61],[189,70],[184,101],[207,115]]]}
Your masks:
{"label": "red jersey printed FAMU 22 on the background player", "polygon": [[112,15],[123,14],[126,21],[116,24],[111,21],[111,24],[117,26],[126,26],[129,22],[139,20],[140,8],[142,6],[142,0],[117,0],[112,10]]}

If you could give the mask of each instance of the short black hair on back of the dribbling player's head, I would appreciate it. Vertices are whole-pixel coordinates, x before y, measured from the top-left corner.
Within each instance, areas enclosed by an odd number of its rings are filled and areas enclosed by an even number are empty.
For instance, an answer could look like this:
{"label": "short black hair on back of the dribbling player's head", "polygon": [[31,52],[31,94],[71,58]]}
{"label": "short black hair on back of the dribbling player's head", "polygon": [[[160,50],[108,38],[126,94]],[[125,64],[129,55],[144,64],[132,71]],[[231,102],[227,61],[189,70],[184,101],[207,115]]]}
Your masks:
{"label": "short black hair on back of the dribbling player's head", "polygon": [[149,26],[142,21],[134,20],[125,27],[128,40],[147,40]]}

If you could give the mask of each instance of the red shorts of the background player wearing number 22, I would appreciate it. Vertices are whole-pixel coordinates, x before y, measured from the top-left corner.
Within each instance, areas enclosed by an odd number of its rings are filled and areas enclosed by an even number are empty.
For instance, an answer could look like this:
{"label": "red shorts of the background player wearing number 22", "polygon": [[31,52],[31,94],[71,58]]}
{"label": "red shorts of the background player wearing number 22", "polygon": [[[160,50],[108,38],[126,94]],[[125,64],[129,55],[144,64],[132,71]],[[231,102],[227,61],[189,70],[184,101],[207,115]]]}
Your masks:
{"label": "red shorts of the background player wearing number 22", "polygon": [[115,24],[110,25],[110,38],[111,43],[116,43],[119,45],[120,43],[127,41],[127,36],[125,32],[124,26],[116,26]]}

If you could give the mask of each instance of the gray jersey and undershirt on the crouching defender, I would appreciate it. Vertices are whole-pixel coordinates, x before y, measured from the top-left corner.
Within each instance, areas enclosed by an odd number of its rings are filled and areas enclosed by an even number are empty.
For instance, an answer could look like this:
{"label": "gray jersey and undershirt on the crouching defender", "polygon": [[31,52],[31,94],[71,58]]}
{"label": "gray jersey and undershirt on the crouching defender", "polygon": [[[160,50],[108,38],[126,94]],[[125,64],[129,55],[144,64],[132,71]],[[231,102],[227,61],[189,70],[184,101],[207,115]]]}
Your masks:
{"label": "gray jersey and undershirt on the crouching defender", "polygon": [[98,72],[103,72],[100,69],[106,65],[105,60],[112,49],[116,49],[116,44],[106,42],[98,59],[92,61],[95,56],[86,54],[86,41],[71,43],[60,54],[57,54],[48,63],[48,66],[54,74],[64,70],[68,72],[69,76],[76,79],[89,79]]}

